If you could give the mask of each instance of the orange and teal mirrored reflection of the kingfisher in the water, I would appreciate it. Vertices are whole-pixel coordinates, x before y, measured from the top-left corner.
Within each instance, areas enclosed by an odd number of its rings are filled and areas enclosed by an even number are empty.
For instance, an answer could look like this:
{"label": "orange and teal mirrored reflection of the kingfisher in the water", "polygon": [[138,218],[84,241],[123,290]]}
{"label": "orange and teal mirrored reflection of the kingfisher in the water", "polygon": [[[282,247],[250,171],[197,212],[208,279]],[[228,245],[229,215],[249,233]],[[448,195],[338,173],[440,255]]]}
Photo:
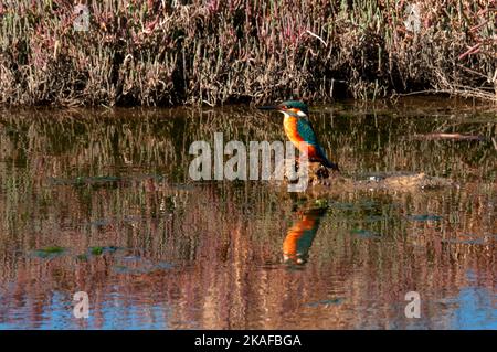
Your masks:
{"label": "orange and teal mirrored reflection of the kingfisher in the water", "polygon": [[283,242],[283,259],[290,264],[305,264],[313,239],[319,228],[319,222],[326,207],[300,211],[299,218],[288,230]]}

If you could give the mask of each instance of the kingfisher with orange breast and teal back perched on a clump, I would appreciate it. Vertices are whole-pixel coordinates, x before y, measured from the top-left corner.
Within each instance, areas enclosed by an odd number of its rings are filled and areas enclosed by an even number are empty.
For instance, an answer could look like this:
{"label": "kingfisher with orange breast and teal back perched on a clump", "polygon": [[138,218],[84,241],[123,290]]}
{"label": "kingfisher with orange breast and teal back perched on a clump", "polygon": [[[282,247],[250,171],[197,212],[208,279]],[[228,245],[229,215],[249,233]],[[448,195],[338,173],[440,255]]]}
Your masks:
{"label": "kingfisher with orange breast and teal back perched on a clump", "polygon": [[[326,168],[340,171],[338,164],[329,161],[322,147],[320,146],[313,125],[310,125],[307,105],[298,100],[287,100],[275,106],[261,106],[261,110],[277,110],[285,116],[283,127],[285,134],[292,143],[300,150],[300,153],[307,153],[310,162],[319,162]],[[305,143],[300,143],[300,142]]]}

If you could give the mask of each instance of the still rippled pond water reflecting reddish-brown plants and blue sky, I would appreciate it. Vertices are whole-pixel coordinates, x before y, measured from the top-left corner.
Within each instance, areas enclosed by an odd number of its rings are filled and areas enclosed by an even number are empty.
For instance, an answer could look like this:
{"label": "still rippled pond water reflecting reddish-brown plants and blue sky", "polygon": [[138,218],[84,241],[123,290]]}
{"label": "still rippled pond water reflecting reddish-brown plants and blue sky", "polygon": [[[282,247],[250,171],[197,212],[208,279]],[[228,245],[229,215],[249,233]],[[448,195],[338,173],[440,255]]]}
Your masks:
{"label": "still rippled pond water reflecting reddish-brown plants and blue sky", "polygon": [[285,140],[248,106],[1,110],[0,329],[497,329],[495,109],[346,102],[311,121],[348,178],[455,185],[191,181],[192,141]]}

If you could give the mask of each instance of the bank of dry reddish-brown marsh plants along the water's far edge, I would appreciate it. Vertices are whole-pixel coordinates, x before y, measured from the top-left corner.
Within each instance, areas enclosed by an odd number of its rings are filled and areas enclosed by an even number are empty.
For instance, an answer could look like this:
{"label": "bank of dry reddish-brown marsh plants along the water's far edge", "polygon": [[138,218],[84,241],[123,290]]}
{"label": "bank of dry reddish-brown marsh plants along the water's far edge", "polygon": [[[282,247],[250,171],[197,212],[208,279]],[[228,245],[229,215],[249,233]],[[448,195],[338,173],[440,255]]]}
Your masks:
{"label": "bank of dry reddish-brown marsh plants along the water's far edge", "polygon": [[[76,4],[89,10],[75,31]],[[410,8],[411,7],[411,8]],[[495,0],[0,2],[0,104],[497,100]]]}

